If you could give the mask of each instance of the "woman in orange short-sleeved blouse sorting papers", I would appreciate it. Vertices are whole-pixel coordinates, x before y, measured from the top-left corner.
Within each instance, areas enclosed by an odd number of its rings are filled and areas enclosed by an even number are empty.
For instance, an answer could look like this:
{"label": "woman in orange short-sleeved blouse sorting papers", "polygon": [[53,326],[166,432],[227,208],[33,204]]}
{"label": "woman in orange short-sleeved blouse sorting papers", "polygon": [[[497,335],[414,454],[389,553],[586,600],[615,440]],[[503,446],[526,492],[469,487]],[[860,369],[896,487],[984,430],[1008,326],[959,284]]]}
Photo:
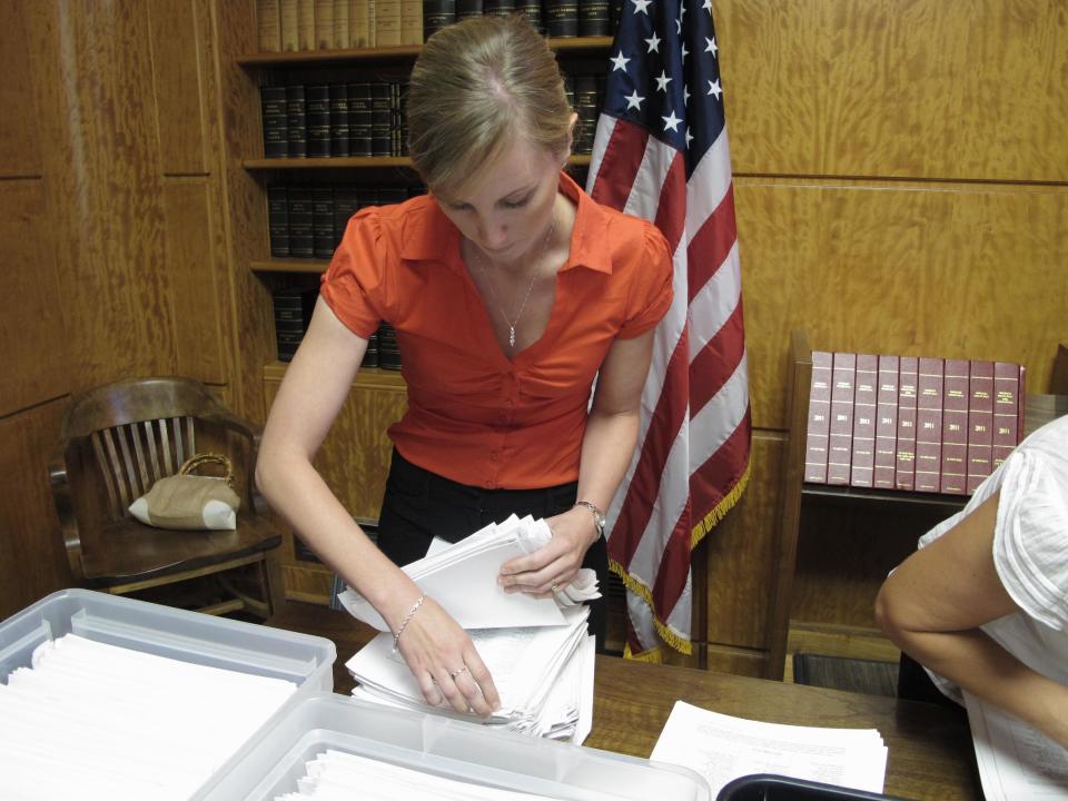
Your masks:
{"label": "woman in orange short-sleeved blouse sorting papers", "polygon": [[[271,505],[389,624],[427,702],[482,715],[498,704],[492,676],[396,565],[435,535],[530,512],[553,538],[502,565],[505,592],[553,593],[584,563],[603,581],[601,510],[635,447],[672,298],[660,233],[561,172],[574,122],[555,58],[524,19],[431,38],[408,98],[431,195],[349,220],[257,469]],[[312,466],[379,320],[397,330],[408,388],[389,429],[380,551]]]}

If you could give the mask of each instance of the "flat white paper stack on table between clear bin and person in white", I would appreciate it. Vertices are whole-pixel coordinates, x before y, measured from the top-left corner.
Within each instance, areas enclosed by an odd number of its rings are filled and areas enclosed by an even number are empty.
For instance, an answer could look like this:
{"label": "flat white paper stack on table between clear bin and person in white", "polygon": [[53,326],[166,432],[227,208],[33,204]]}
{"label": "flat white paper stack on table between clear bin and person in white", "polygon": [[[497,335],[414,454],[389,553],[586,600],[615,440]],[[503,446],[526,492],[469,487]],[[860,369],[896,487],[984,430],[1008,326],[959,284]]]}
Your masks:
{"label": "flat white paper stack on table between clear bin and person in white", "polygon": [[718,793],[728,782],[774,773],[882,792],[887,746],[874,729],[761,723],[676,701],[650,759],[695,770]]}

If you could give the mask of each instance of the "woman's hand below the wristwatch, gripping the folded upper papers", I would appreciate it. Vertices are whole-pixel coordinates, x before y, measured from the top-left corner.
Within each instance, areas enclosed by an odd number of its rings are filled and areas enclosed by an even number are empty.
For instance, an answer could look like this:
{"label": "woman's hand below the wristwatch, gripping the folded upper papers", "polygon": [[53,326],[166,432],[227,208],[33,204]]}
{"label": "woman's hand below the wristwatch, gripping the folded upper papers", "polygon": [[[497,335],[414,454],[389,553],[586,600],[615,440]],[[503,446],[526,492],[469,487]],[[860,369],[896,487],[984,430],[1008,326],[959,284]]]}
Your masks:
{"label": "woman's hand below the wristwatch, gripping the folded upper papers", "polygon": [[554,595],[574,580],[586,551],[597,538],[593,515],[581,506],[545,522],[553,532],[546,545],[501,565],[497,583],[505,592],[524,592],[535,597]]}

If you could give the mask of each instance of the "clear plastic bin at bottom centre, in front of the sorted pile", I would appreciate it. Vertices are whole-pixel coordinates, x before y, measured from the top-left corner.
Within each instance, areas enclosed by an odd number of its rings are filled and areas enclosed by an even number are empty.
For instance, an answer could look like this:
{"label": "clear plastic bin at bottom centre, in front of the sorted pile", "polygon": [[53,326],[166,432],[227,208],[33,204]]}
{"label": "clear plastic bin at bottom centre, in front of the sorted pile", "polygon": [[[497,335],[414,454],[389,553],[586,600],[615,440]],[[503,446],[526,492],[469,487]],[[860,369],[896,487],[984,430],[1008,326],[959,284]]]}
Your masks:
{"label": "clear plastic bin at bottom centre, in front of the sorted pile", "polygon": [[305,763],[326,749],[558,799],[711,798],[704,779],[685,768],[310,693],[260,729],[194,799],[261,801],[294,792]]}

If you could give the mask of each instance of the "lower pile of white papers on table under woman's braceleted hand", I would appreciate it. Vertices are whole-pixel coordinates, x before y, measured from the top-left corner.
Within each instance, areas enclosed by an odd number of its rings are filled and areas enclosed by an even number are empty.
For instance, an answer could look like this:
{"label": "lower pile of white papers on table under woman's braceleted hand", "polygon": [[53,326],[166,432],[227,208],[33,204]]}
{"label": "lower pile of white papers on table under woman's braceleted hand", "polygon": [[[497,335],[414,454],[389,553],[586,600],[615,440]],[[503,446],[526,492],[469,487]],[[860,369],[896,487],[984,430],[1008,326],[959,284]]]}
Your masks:
{"label": "lower pile of white papers on table under woman's braceleted hand", "polygon": [[[593,724],[594,639],[586,634],[585,605],[561,612],[563,625],[483,629],[468,632],[501,695],[501,709],[472,722],[532,736],[581,744]],[[359,682],[353,695],[374,703],[461,716],[431,708],[415,676],[384,632],[345,663]]]}

